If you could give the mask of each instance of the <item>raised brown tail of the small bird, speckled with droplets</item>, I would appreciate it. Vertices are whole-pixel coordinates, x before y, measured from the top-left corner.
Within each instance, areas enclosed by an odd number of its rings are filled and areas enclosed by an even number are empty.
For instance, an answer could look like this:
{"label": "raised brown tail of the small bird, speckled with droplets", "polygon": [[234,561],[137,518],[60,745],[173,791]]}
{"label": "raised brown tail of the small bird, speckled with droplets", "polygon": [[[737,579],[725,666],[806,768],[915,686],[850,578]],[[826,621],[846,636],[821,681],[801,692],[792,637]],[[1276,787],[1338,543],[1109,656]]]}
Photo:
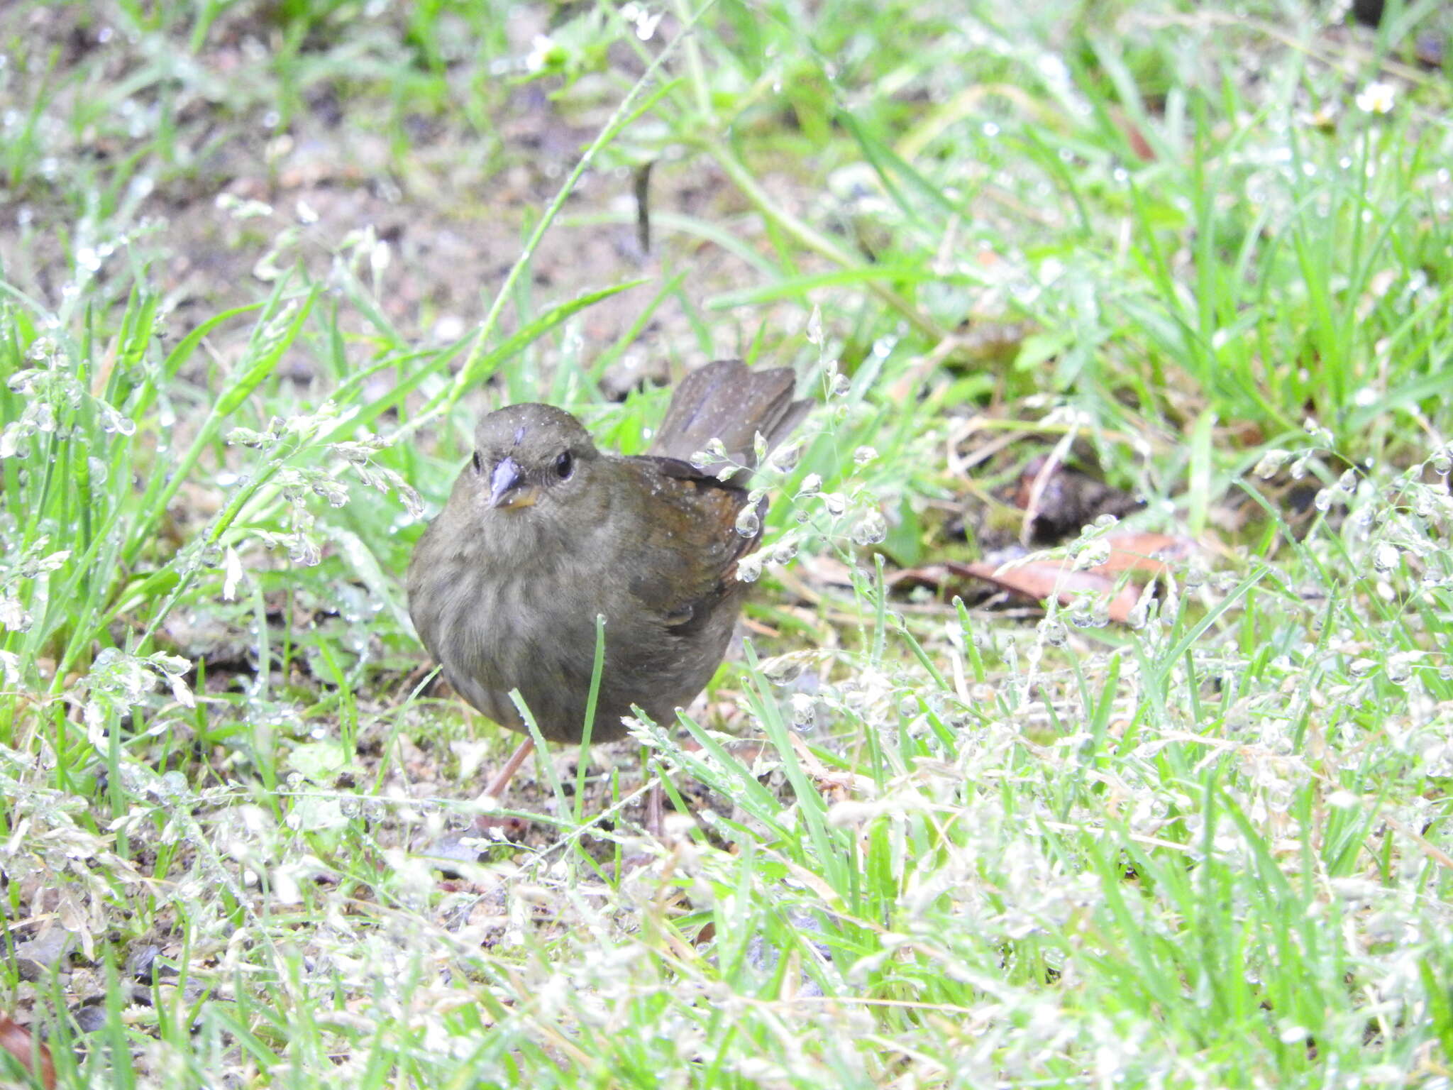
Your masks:
{"label": "raised brown tail of the small bird, speckled with droplets", "polygon": [[790,368],[753,371],[740,359],[697,368],[676,387],[651,453],[690,461],[719,439],[728,459],[751,469],[757,435],[772,451],[812,408],[811,401],[792,400],[795,387]]}

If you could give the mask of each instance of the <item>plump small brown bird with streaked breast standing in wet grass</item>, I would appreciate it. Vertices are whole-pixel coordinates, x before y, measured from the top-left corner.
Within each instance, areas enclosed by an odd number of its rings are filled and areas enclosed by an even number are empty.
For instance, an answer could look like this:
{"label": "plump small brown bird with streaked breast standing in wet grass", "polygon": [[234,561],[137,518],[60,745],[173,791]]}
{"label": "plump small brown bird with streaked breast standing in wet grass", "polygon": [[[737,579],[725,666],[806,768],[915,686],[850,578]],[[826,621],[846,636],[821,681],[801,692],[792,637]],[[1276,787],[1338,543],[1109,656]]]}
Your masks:
{"label": "plump small brown bird with streaked breast standing in wet grass", "polygon": [[[777,445],[806,414],[788,368],[718,360],[671,397],[651,452],[603,453],[570,413],[487,413],[474,456],[414,548],[408,612],[449,683],[498,724],[578,743],[604,616],[593,741],[625,734],[632,705],[665,722],[696,698],[731,639],[760,538],[744,514],[757,436]],[[741,467],[718,478],[690,456],[719,440]],[[760,512],[756,514],[760,516]],[[529,738],[487,788],[500,795]]]}

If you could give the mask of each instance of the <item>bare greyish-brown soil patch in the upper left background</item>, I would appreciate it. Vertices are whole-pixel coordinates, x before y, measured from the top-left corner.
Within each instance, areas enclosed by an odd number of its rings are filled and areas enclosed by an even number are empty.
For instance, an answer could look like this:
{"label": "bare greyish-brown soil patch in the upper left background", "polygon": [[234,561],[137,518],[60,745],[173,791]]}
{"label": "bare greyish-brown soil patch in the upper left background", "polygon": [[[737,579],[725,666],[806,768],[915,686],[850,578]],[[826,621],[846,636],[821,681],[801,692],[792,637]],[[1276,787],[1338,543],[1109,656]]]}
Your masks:
{"label": "bare greyish-brown soil patch in the upper left background", "polygon": [[[4,19],[4,16],[0,16]],[[234,83],[259,74],[262,42],[278,25],[232,17],[214,29],[195,68],[155,78],[155,57],[125,41],[103,19],[67,6],[12,10],[12,35],[25,35],[32,61],[58,55],[58,71],[86,71],[71,92],[147,86],[122,100],[124,118],[100,118],[93,129],[49,132],[48,170],[76,164],[125,163],[132,147],[151,147],[155,112],[174,110],[170,163],[138,164],[118,196],[126,218],[148,238],[157,285],[171,308],[177,336],[222,310],[251,302],[294,263],[325,278],[340,247],[360,231],[388,244],[384,265],[372,251],[355,254],[353,270],[376,292],[392,336],[429,346],[453,342],[484,314],[542,208],[556,195],[581,151],[609,118],[618,89],[584,80],[570,94],[552,97],[542,83],[510,86],[519,73],[491,89],[488,128],[464,129],[459,116],[410,113],[394,118],[386,97],[359,94],[346,74],[320,78],[302,92],[298,112],[283,125],[270,110],[237,103]],[[545,31],[532,13],[510,19],[510,51],[523,57]],[[0,31],[3,35],[4,31]],[[155,51],[154,42],[142,44]],[[321,48],[323,42],[318,44]],[[148,73],[151,73],[148,76]],[[12,76],[23,97],[39,71]],[[20,86],[15,86],[20,84]],[[558,80],[551,84],[558,87]],[[353,92],[353,93],[349,93]],[[231,115],[241,109],[243,116]],[[141,119],[138,119],[141,118]],[[126,121],[129,119],[129,122]],[[128,140],[118,124],[134,124]],[[46,131],[45,125],[39,126]],[[642,158],[654,157],[642,148]],[[116,170],[126,179],[126,169]],[[586,291],[649,278],[652,283],[606,299],[577,320],[574,334],[606,346],[625,334],[663,279],[663,269],[683,273],[680,295],[667,299],[604,378],[609,391],[665,378],[665,358],[699,362],[680,299],[700,307],[719,292],[747,283],[741,263],[719,247],[652,228],[644,253],[636,225],[635,166],[610,153],[584,174],[545,235],[529,269],[527,292],[565,301]],[[41,179],[0,195],[0,257],[7,278],[32,296],[60,307],[74,270],[68,225],[73,209],[55,203]],[[657,214],[700,217],[731,225],[744,211],[740,196],[700,157],[655,164],[649,205]],[[103,246],[108,240],[94,240]],[[102,276],[115,272],[103,269]],[[118,283],[122,301],[129,276]],[[379,336],[363,315],[346,318],[360,336]],[[750,333],[750,331],[748,331]],[[228,358],[243,328],[222,327],[211,343]],[[388,334],[385,334],[388,336]],[[716,344],[715,353],[738,350]],[[590,353],[587,352],[587,356]]]}

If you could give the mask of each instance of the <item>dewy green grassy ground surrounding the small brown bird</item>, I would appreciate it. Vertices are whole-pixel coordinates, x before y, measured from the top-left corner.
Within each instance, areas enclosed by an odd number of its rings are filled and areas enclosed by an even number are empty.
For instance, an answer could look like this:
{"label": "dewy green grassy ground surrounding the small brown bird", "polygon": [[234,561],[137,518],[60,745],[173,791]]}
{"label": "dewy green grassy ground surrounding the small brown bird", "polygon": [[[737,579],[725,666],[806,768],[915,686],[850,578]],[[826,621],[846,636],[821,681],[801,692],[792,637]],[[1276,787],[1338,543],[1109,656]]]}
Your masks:
{"label": "dewy green grassy ground surrounding the small brown bird", "polygon": [[[68,1087],[1446,1084],[1453,25],[1391,7],[7,9],[0,1012]],[[639,451],[613,376],[728,353],[822,407],[638,731],[711,808],[555,753],[442,878],[514,741],[401,590],[474,413]],[[891,584],[1056,445],[1200,544],[1136,623]]]}

